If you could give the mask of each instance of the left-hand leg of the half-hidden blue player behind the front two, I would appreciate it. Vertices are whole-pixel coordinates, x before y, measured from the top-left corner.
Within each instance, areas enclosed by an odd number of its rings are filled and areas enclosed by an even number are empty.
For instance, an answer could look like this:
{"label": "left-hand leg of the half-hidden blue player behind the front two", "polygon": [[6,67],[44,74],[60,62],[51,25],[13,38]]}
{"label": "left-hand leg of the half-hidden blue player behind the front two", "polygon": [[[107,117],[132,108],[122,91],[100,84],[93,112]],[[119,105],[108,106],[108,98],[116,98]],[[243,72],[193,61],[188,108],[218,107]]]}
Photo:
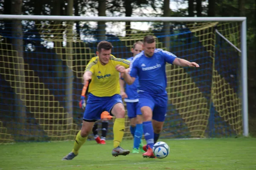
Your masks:
{"label": "left-hand leg of the half-hidden blue player behind the front two", "polygon": [[134,108],[134,102],[126,102],[127,116],[130,119],[130,132],[133,137],[136,130],[136,110]]}

